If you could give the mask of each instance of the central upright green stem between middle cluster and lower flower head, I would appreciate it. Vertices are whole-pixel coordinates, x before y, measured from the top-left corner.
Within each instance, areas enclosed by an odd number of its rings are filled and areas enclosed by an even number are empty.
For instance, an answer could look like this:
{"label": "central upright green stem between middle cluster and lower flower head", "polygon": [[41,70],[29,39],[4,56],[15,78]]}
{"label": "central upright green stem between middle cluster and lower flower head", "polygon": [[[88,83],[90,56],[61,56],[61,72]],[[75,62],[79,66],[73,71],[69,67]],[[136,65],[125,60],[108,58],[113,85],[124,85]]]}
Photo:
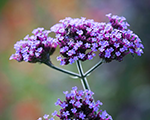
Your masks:
{"label": "central upright green stem between middle cluster and lower flower head", "polygon": [[79,74],[81,76],[81,83],[82,83],[84,90],[90,90],[90,86],[89,86],[88,81],[84,75],[81,62],[79,60],[77,60],[76,64],[77,64]]}

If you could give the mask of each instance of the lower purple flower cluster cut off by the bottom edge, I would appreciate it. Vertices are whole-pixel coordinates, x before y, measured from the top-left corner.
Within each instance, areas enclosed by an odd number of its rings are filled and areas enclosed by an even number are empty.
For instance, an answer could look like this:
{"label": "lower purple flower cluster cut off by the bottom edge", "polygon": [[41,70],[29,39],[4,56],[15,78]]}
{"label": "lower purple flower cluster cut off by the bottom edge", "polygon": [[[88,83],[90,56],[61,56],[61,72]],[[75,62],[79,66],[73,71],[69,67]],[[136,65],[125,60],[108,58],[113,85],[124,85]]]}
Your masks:
{"label": "lower purple flower cluster cut off by the bottom edge", "polygon": [[[66,100],[57,100],[55,105],[62,107],[60,114],[57,111],[52,113],[52,116],[59,117],[60,120],[112,120],[112,117],[106,112],[100,110],[102,103],[98,100],[94,103],[92,95],[94,94],[89,90],[79,90],[77,87],[73,87],[71,93],[68,91],[64,92]],[[54,120],[49,118],[49,115],[44,115],[45,120]],[[38,120],[42,120],[39,118]]]}

